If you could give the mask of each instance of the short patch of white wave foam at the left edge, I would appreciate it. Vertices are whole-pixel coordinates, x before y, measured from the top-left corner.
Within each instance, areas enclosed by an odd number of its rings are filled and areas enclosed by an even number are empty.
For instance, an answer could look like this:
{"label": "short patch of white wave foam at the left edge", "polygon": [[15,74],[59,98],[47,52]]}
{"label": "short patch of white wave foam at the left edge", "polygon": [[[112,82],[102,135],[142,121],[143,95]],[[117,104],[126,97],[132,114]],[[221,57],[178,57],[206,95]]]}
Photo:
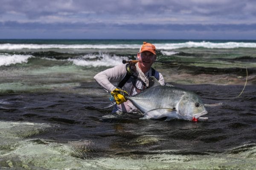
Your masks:
{"label": "short patch of white wave foam at the left edge", "polygon": [[31,55],[6,55],[0,54],[0,66],[2,65],[11,65],[17,63],[28,62],[28,59],[31,58]]}

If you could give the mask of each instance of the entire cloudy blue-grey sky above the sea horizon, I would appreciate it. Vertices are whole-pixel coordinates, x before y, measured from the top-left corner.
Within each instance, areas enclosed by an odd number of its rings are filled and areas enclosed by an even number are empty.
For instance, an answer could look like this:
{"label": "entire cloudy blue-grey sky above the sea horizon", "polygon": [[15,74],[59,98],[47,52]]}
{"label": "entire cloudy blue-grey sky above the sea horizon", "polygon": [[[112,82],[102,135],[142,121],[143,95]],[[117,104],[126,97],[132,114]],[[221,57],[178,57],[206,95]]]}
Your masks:
{"label": "entire cloudy blue-grey sky above the sea horizon", "polygon": [[256,40],[256,0],[0,0],[0,39]]}

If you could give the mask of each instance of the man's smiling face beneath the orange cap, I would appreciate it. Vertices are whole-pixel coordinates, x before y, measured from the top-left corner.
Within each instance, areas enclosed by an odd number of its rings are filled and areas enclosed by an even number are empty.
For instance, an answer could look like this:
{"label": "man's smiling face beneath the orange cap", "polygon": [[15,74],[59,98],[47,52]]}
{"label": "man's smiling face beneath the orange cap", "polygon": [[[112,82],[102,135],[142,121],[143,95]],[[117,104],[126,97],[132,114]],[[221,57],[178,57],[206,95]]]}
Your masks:
{"label": "man's smiling face beneath the orange cap", "polygon": [[139,59],[140,68],[150,69],[157,56],[149,51],[144,51],[138,53],[137,57]]}

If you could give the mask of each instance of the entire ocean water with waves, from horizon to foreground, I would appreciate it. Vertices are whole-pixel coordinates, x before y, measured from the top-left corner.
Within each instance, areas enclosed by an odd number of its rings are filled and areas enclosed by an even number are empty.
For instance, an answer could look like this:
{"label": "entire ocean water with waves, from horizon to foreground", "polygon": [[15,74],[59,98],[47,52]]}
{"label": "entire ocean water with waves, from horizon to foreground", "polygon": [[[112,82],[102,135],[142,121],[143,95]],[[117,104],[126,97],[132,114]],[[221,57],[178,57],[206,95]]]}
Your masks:
{"label": "entire ocean water with waves, from horizon to foreground", "polygon": [[[256,41],[146,40],[209,119],[111,113],[93,76],[145,40],[0,40],[0,169],[254,170]],[[198,63],[200,62],[200,63]]]}

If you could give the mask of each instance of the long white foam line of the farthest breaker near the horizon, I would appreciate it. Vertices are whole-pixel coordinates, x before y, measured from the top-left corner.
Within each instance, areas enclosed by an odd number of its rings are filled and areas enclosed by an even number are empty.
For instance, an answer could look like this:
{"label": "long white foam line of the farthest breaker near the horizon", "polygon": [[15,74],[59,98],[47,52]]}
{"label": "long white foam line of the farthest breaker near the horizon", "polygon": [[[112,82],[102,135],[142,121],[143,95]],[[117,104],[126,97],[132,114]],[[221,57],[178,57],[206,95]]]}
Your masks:
{"label": "long white foam line of the farthest breaker near the horizon", "polygon": [[[152,42],[154,43],[154,42]],[[158,50],[172,50],[177,48],[192,48],[192,47],[204,47],[204,48],[256,48],[255,42],[181,42],[181,43],[154,43]],[[63,45],[63,44],[1,44],[0,50],[17,50],[17,49],[139,49],[140,44],[77,44],[77,45]]]}

